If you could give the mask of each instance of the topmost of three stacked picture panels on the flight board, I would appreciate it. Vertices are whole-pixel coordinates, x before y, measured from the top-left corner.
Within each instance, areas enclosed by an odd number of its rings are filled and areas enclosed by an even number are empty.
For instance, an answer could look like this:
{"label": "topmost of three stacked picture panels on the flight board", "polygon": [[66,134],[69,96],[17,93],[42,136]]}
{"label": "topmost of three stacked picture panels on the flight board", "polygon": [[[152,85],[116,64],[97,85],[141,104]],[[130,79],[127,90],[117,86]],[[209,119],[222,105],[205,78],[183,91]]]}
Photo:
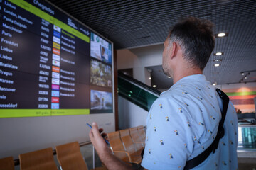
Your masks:
{"label": "topmost of three stacked picture panels on the flight board", "polygon": [[102,62],[112,63],[112,47],[110,42],[103,40],[95,33],[90,36],[90,55]]}

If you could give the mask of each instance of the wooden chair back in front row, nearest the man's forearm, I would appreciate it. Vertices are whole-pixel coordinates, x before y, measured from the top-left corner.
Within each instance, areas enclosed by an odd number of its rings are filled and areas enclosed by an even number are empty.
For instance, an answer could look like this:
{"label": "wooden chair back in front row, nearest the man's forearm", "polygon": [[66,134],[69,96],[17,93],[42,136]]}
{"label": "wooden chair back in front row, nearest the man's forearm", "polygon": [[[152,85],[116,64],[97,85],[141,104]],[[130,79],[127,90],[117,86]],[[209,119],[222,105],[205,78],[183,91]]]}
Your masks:
{"label": "wooden chair back in front row, nearest the man's forearm", "polygon": [[64,145],[58,145],[55,147],[57,153],[57,159],[63,170],[87,170],[85,159],[83,159],[80,152],[79,143],[70,142]]}

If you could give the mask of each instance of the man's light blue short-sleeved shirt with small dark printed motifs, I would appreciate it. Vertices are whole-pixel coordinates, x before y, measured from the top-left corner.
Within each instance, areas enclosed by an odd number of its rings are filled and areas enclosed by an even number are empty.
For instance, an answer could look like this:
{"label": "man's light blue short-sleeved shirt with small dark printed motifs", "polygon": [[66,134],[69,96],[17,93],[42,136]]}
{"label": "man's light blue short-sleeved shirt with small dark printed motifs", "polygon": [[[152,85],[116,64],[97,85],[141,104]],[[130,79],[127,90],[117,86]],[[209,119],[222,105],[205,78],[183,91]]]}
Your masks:
{"label": "man's light blue short-sleeved shirt with small dark printed motifs", "polygon": [[[145,169],[183,169],[215,139],[223,101],[203,74],[184,77],[153,103],[147,118]],[[230,102],[218,149],[193,169],[238,169],[238,120]]]}

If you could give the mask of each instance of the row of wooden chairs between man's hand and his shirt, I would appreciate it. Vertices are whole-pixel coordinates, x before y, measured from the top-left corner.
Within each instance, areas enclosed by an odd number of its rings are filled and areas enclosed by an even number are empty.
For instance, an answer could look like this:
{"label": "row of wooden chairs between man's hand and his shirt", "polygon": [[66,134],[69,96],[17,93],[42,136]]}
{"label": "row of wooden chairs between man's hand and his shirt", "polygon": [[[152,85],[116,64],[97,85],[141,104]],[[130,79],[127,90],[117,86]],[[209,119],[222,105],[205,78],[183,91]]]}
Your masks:
{"label": "row of wooden chairs between man's hand and his shirt", "polygon": [[107,134],[110,148],[115,156],[127,163],[140,164],[145,145],[145,131],[142,125]]}

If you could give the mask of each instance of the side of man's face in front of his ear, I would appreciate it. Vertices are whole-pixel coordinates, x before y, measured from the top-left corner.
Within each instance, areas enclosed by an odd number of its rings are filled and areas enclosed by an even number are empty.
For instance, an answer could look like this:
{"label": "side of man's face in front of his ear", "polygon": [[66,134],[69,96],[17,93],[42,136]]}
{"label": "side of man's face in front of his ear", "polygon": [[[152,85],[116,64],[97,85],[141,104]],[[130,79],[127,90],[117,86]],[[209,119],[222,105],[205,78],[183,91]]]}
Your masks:
{"label": "side of man's face in front of his ear", "polygon": [[164,74],[166,74],[167,76],[171,77],[171,67],[169,66],[169,51],[170,51],[169,47],[169,38],[167,37],[166,40],[164,41],[164,51],[163,51],[163,63],[162,63],[162,67],[163,67],[163,71]]}

